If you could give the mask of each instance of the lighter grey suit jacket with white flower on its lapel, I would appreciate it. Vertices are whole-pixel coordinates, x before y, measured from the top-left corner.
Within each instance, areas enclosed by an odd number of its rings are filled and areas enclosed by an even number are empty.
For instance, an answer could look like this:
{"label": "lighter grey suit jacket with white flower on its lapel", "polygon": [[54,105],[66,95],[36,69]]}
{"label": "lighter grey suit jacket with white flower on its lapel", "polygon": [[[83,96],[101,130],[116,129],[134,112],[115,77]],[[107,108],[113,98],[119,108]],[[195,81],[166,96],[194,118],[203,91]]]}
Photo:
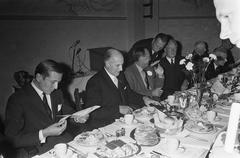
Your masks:
{"label": "lighter grey suit jacket with white flower on its lapel", "polygon": [[157,84],[156,82],[161,82],[162,83],[163,80],[159,79],[156,76],[156,73],[153,69],[151,69],[149,71],[152,72],[151,76],[147,75],[147,79],[148,79],[150,89],[146,88],[146,86],[144,84],[144,81],[141,77],[140,72],[138,71],[138,68],[137,68],[136,64],[132,64],[131,66],[127,67],[124,74],[125,74],[126,79],[129,83],[129,86],[132,90],[134,90],[135,92],[137,92],[139,94],[151,97],[152,96],[152,90],[157,88],[157,85],[158,86],[160,85],[160,84]]}

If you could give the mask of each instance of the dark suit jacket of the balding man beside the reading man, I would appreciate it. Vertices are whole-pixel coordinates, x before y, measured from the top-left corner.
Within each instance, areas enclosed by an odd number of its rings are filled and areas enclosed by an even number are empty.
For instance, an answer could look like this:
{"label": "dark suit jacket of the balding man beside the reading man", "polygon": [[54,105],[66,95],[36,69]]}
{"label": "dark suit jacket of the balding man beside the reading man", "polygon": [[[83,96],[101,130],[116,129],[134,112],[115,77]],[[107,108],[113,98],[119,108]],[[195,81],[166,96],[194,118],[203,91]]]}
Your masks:
{"label": "dark suit jacket of the balding man beside the reading man", "polygon": [[86,107],[100,105],[101,108],[93,111],[88,119],[88,129],[108,125],[118,119],[119,105],[129,105],[133,108],[144,106],[142,95],[133,92],[126,82],[123,73],[118,76],[118,88],[107,72],[102,69],[87,82]]}

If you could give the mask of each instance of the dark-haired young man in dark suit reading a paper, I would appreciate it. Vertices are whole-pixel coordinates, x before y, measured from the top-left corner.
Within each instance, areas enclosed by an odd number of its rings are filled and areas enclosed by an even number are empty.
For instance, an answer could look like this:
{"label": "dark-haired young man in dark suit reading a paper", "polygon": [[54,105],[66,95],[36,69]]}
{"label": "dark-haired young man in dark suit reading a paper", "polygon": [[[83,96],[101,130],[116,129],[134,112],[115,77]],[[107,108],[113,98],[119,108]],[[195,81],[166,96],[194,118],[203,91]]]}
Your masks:
{"label": "dark-haired young man in dark suit reading a paper", "polygon": [[[64,132],[67,121],[56,118],[56,115],[74,112],[57,90],[62,75],[57,62],[45,60],[36,67],[32,82],[8,99],[5,135],[25,152],[23,157],[42,154],[57,143],[72,140],[72,136]],[[78,120],[83,123],[87,117]]]}

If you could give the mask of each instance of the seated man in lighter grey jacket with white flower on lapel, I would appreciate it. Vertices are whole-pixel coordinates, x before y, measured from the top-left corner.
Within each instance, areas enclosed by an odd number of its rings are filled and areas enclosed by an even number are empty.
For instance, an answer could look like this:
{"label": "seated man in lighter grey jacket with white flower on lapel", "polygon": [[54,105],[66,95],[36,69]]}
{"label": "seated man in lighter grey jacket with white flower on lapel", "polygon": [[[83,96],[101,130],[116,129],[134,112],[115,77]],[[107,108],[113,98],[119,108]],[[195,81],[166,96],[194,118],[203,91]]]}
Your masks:
{"label": "seated man in lighter grey jacket with white flower on lapel", "polygon": [[[149,67],[150,54],[144,47],[136,48],[133,51],[133,60],[134,63],[127,67],[124,72],[130,88],[142,95],[160,97],[164,80],[163,69],[161,74],[157,75],[154,69]],[[159,87],[156,87],[156,85]]]}

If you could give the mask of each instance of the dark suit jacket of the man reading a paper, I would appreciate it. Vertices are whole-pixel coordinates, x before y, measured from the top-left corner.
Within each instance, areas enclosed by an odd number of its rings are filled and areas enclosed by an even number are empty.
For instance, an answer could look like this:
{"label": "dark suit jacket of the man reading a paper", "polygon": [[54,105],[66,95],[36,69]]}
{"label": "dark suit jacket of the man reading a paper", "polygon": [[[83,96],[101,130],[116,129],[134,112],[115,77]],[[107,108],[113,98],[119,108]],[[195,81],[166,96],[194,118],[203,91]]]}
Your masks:
{"label": "dark suit jacket of the man reading a paper", "polygon": [[72,139],[68,133],[47,137],[46,143],[40,144],[39,130],[56,122],[56,115],[70,114],[74,110],[66,105],[60,90],[51,93],[51,118],[40,96],[31,84],[13,93],[7,103],[5,134],[17,148],[36,147],[39,153],[46,152],[59,142]]}

